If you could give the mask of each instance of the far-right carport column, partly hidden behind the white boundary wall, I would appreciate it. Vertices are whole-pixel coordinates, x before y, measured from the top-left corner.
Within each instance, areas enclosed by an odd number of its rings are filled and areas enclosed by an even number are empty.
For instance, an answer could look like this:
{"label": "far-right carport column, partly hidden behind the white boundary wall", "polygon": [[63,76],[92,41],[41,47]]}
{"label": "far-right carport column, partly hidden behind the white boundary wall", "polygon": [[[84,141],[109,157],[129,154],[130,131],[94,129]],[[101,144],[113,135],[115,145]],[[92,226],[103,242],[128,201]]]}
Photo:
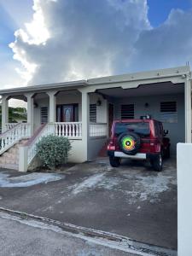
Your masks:
{"label": "far-right carport column, partly hidden behind the white boundary wall", "polygon": [[185,143],[191,143],[191,82],[189,77],[187,77],[184,85]]}

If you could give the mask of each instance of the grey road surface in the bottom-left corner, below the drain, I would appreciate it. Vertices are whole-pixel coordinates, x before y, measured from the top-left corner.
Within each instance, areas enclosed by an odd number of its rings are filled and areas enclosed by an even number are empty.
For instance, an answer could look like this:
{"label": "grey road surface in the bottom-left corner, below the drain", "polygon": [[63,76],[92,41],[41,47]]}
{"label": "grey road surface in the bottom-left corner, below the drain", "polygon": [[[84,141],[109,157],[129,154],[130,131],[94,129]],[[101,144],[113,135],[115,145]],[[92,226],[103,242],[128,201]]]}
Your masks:
{"label": "grey road surface in the bottom-left corner, below the drain", "polygon": [[[0,213],[1,256],[136,256],[133,250],[119,249],[117,243],[70,234],[37,221],[13,218]],[[18,236],[18,234],[20,234]],[[143,255],[143,254],[139,254]]]}

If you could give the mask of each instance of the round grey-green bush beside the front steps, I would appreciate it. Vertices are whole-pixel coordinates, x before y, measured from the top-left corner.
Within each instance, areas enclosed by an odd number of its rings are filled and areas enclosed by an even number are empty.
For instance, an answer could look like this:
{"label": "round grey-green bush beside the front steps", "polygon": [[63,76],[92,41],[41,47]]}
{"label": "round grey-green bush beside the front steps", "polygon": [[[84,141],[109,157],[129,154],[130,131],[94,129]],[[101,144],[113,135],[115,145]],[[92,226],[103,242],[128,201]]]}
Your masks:
{"label": "round grey-green bush beside the front steps", "polygon": [[42,137],[37,144],[37,154],[44,166],[53,170],[56,166],[67,163],[71,143],[67,137],[49,135]]}

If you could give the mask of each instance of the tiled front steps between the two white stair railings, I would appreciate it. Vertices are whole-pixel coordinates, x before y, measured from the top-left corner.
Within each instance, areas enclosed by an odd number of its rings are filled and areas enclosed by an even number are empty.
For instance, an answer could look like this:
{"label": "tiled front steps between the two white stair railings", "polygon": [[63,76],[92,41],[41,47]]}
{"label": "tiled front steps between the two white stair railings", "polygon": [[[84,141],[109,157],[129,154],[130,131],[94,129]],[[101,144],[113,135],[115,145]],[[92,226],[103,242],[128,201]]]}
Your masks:
{"label": "tiled front steps between the two white stair railings", "polygon": [[0,168],[19,170],[19,148],[27,139],[20,140],[12,148],[0,155]]}

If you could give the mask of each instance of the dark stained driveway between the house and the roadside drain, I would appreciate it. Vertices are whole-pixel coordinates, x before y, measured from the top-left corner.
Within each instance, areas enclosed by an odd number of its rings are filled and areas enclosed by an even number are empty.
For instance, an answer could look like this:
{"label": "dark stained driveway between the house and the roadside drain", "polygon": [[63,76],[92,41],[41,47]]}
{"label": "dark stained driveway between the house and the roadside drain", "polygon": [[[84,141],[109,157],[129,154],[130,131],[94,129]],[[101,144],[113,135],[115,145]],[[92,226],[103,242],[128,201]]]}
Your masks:
{"label": "dark stained driveway between the house and the roadside drain", "polygon": [[159,173],[142,163],[111,168],[108,160],[56,175],[2,171],[0,207],[176,249],[176,180],[172,161]]}

